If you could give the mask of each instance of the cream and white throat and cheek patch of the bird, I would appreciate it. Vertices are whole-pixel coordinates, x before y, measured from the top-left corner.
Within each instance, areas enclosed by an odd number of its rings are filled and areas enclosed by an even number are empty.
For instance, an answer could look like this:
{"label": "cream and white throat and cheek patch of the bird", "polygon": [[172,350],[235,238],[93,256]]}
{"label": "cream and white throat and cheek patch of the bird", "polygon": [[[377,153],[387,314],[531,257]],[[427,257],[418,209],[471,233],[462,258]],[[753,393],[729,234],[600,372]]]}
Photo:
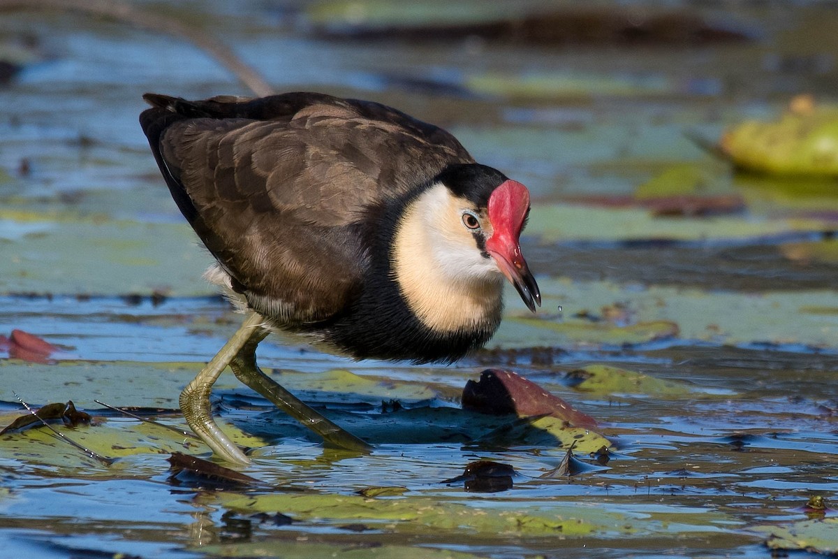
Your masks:
{"label": "cream and white throat and cheek patch of the bird", "polygon": [[393,272],[407,306],[428,328],[468,331],[498,319],[503,277],[462,225],[465,200],[434,185],[396,226]]}

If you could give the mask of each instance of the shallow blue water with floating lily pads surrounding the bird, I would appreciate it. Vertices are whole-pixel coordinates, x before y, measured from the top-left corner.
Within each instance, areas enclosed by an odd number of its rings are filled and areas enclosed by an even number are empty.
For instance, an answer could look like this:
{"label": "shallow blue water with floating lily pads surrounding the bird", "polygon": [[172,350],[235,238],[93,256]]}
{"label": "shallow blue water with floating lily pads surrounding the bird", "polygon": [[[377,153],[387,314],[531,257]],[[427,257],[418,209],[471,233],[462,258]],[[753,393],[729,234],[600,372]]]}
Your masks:
{"label": "shallow blue water with floating lily pads surrounding the bird", "polygon": [[[703,8],[749,40],[701,44],[354,40],[318,28],[340,11],[307,19],[306,4],[142,8],[205,28],[277,91],[398,106],[527,184],[523,249],[545,305],[533,322],[510,290],[489,349],[452,367],[353,363],[267,339],[261,365],[375,451],[323,448],[223,375],[216,413],[254,448],[246,474],[270,487],[171,479],[169,453],[207,449],[95,400],[181,426],[178,391],[240,318],[201,279],[209,257],[137,114],[146,91],[248,91],[177,38],[3,13],[0,44],[35,46],[0,88],[0,334],[23,329],[60,351],[49,363],[0,354],[0,425],[23,414],[15,395],[72,400],[94,422],[55,427],[116,458],[105,466],[43,427],[0,436],[8,556],[763,557],[758,526],[806,520],[812,496],[835,506],[834,183],[733,173],[685,136],[715,139],[799,92],[835,101],[834,8]],[[624,203],[679,166],[742,208],[655,217]],[[602,385],[572,373],[597,364],[630,372]],[[604,468],[541,477],[566,454],[561,432],[463,411],[463,386],[489,367],[595,417],[612,457],[575,453]],[[515,468],[512,489],[444,483],[478,460]],[[384,486],[397,489],[356,494]],[[834,551],[838,525],[826,526]]]}

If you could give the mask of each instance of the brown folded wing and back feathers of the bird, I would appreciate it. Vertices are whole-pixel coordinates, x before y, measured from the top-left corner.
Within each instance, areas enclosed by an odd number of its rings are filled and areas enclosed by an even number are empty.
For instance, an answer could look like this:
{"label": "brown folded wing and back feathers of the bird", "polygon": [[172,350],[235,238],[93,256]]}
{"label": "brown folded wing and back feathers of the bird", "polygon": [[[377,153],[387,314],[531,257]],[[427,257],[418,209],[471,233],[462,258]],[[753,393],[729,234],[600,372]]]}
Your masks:
{"label": "brown folded wing and back feathers of the bird", "polygon": [[365,101],[147,99],[143,129],[184,215],[251,307],[287,325],[360,290],[367,208],[473,162],[440,128]]}

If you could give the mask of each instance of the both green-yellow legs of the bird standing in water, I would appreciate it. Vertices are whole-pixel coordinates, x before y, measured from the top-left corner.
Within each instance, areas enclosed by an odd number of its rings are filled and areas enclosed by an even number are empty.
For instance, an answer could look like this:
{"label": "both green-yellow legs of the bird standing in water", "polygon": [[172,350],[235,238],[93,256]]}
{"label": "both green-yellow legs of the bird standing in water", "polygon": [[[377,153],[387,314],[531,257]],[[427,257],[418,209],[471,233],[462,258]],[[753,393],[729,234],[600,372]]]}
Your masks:
{"label": "both green-yellow legs of the bird standing in water", "polygon": [[323,437],[326,443],[349,450],[369,452],[369,444],[323,417],[259,369],[256,365],[256,346],[268,334],[268,330],[262,327],[264,322],[265,319],[258,313],[249,313],[224,347],[181,392],[180,409],[184,412],[189,427],[204,439],[204,443],[207,443],[220,458],[233,463],[250,463],[245,454],[215,424],[209,405],[209,393],[215,380],[225,367],[230,365],[239,380]]}

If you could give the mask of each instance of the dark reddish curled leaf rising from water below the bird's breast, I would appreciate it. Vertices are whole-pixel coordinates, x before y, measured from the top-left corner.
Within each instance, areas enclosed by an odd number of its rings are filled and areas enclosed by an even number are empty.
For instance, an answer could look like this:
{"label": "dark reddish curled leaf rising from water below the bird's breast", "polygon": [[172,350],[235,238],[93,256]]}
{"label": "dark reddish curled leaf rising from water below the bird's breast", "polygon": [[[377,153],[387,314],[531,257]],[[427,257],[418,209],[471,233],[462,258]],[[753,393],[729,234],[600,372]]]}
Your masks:
{"label": "dark reddish curled leaf rising from water below the bird's breast", "polygon": [[597,427],[593,417],[511,370],[487,369],[478,382],[468,380],[463,389],[463,408],[481,413],[517,413],[522,417],[553,416],[574,427]]}

